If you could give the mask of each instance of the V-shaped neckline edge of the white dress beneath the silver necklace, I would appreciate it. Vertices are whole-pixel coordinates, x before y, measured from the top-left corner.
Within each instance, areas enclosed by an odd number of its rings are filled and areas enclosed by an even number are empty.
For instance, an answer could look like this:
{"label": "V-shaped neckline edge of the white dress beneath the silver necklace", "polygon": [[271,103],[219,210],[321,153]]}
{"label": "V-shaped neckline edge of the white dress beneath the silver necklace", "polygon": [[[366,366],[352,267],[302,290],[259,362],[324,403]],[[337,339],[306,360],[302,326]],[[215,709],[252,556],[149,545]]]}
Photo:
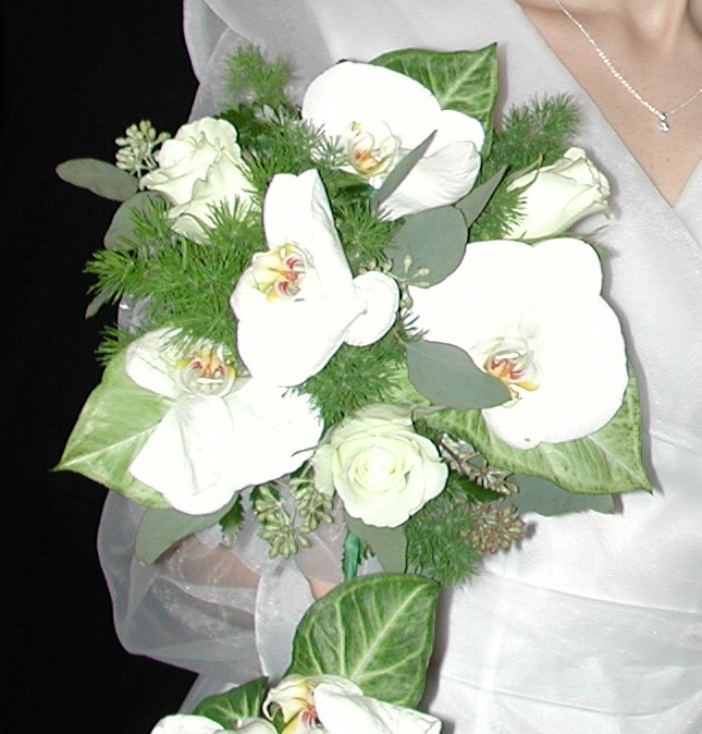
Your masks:
{"label": "V-shaped neckline edge of the white dress beneath the silver necklace", "polygon": [[580,82],[575,77],[572,72],[563,62],[561,57],[553,50],[553,48],[549,45],[546,39],[541,35],[541,32],[539,30],[539,28],[537,28],[533,21],[531,20],[529,14],[525,11],[525,9],[519,4],[519,2],[517,2],[517,0],[507,0],[507,2],[508,4],[514,5],[514,10],[522,19],[525,27],[527,27],[531,32],[534,38],[534,42],[538,42],[540,45],[542,53],[544,56],[551,57],[552,62],[556,64],[559,73],[565,78],[568,79],[571,90],[578,91],[577,96],[583,102],[586,102],[590,108],[590,110],[595,114],[602,129],[607,131],[607,133],[609,133],[616,146],[619,148],[621,156],[629,162],[632,169],[637,171],[638,178],[640,178],[643,182],[646,183],[646,185],[649,185],[653,189],[656,198],[658,199],[660,206],[664,209],[667,209],[669,211],[679,215],[680,209],[685,206],[688,196],[691,195],[691,192],[698,185],[698,182],[701,182],[702,184],[702,157],[698,160],[697,166],[692,170],[688,180],[685,182],[685,185],[678,193],[675,201],[670,204],[665,198],[665,196],[663,196],[663,194],[655,185],[655,183],[651,180],[649,174],[644,171],[643,167],[641,166],[639,160],[633,156],[627,144],[619,135],[619,133],[614,129],[612,123],[604,117],[604,114],[598,107],[596,102],[593,100],[590,93],[580,84]]}

